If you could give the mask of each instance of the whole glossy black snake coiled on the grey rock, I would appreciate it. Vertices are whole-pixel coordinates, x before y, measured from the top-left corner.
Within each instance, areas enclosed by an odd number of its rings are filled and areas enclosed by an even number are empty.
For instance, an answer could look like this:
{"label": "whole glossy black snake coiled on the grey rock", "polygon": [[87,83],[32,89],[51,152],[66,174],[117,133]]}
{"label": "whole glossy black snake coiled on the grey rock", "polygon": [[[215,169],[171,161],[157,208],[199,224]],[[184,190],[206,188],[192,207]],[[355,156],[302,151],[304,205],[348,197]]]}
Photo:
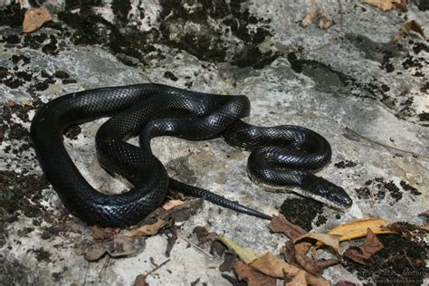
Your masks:
{"label": "whole glossy black snake coiled on the grey rock", "polygon": [[[150,139],[157,136],[189,140],[222,136],[228,144],[252,151],[247,171],[254,181],[267,186],[300,186],[303,195],[338,208],[352,204],[341,187],[307,171],[329,162],[331,149],[325,138],[298,126],[261,128],[246,124],[241,119],[249,112],[250,102],[245,96],[185,91],[154,83],[100,88],[48,102],[34,116],[31,136],[43,173],[62,203],[88,224],[137,224],[163,202],[168,188],[248,215],[271,218],[169,178],[150,148]],[[102,117],[111,118],[96,136],[100,164],[133,186],[120,195],[93,189],[62,143],[63,132],[72,125]],[[135,136],[139,136],[139,148],[126,142]]]}

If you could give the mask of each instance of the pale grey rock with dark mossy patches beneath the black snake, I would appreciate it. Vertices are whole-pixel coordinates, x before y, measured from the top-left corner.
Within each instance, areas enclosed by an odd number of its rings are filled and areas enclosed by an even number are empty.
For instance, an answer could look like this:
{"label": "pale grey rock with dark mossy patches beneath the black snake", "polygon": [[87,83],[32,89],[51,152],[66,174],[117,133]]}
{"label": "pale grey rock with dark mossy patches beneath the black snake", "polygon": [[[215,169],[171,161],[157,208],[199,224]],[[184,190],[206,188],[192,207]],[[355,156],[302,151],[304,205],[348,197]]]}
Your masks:
{"label": "pale grey rock with dark mossy patches beneath the black snake", "polygon": [[[407,20],[428,31],[429,12],[418,3],[406,12],[381,12],[322,1],[334,20],[322,30],[300,25],[311,1],[39,1],[54,20],[23,34],[24,9],[37,1],[19,2],[0,6],[0,277],[6,285],[130,285],[154,268],[149,258],[167,259],[167,239],[157,235],[134,257],[86,262],[91,232],[68,214],[34,157],[28,131],[35,110],[64,93],[102,86],[151,81],[244,94],[252,101],[249,122],[296,124],[329,138],[332,163],[319,175],[343,186],[354,205],[339,215],[316,205],[324,218],[306,222],[315,231],[367,216],[422,223],[417,214],[427,210],[429,193],[429,46],[413,32],[390,43]],[[120,192],[125,186],[99,167],[94,152],[103,120],[72,129],[64,142],[92,186]],[[264,213],[278,214],[285,199],[298,197],[253,185],[248,153],[222,139],[156,138],[152,148],[171,176]],[[298,202],[306,208],[306,200]],[[179,232],[195,241],[197,225],[261,253],[282,242],[265,221],[210,203]],[[147,281],[229,285],[220,263],[178,240],[170,262]],[[358,281],[340,266],[325,277]]]}

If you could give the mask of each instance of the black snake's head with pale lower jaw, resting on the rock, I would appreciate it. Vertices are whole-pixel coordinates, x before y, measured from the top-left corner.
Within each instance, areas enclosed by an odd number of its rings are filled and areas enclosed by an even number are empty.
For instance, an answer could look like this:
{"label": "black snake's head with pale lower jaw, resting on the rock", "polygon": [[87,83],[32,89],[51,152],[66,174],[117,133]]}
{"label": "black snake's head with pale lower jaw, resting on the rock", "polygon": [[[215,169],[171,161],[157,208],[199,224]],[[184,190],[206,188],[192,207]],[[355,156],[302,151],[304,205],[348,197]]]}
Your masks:
{"label": "black snake's head with pale lower jaw, resting on the rock", "polygon": [[342,187],[319,176],[309,174],[303,182],[302,190],[304,195],[336,209],[344,210],[353,205],[352,199]]}

